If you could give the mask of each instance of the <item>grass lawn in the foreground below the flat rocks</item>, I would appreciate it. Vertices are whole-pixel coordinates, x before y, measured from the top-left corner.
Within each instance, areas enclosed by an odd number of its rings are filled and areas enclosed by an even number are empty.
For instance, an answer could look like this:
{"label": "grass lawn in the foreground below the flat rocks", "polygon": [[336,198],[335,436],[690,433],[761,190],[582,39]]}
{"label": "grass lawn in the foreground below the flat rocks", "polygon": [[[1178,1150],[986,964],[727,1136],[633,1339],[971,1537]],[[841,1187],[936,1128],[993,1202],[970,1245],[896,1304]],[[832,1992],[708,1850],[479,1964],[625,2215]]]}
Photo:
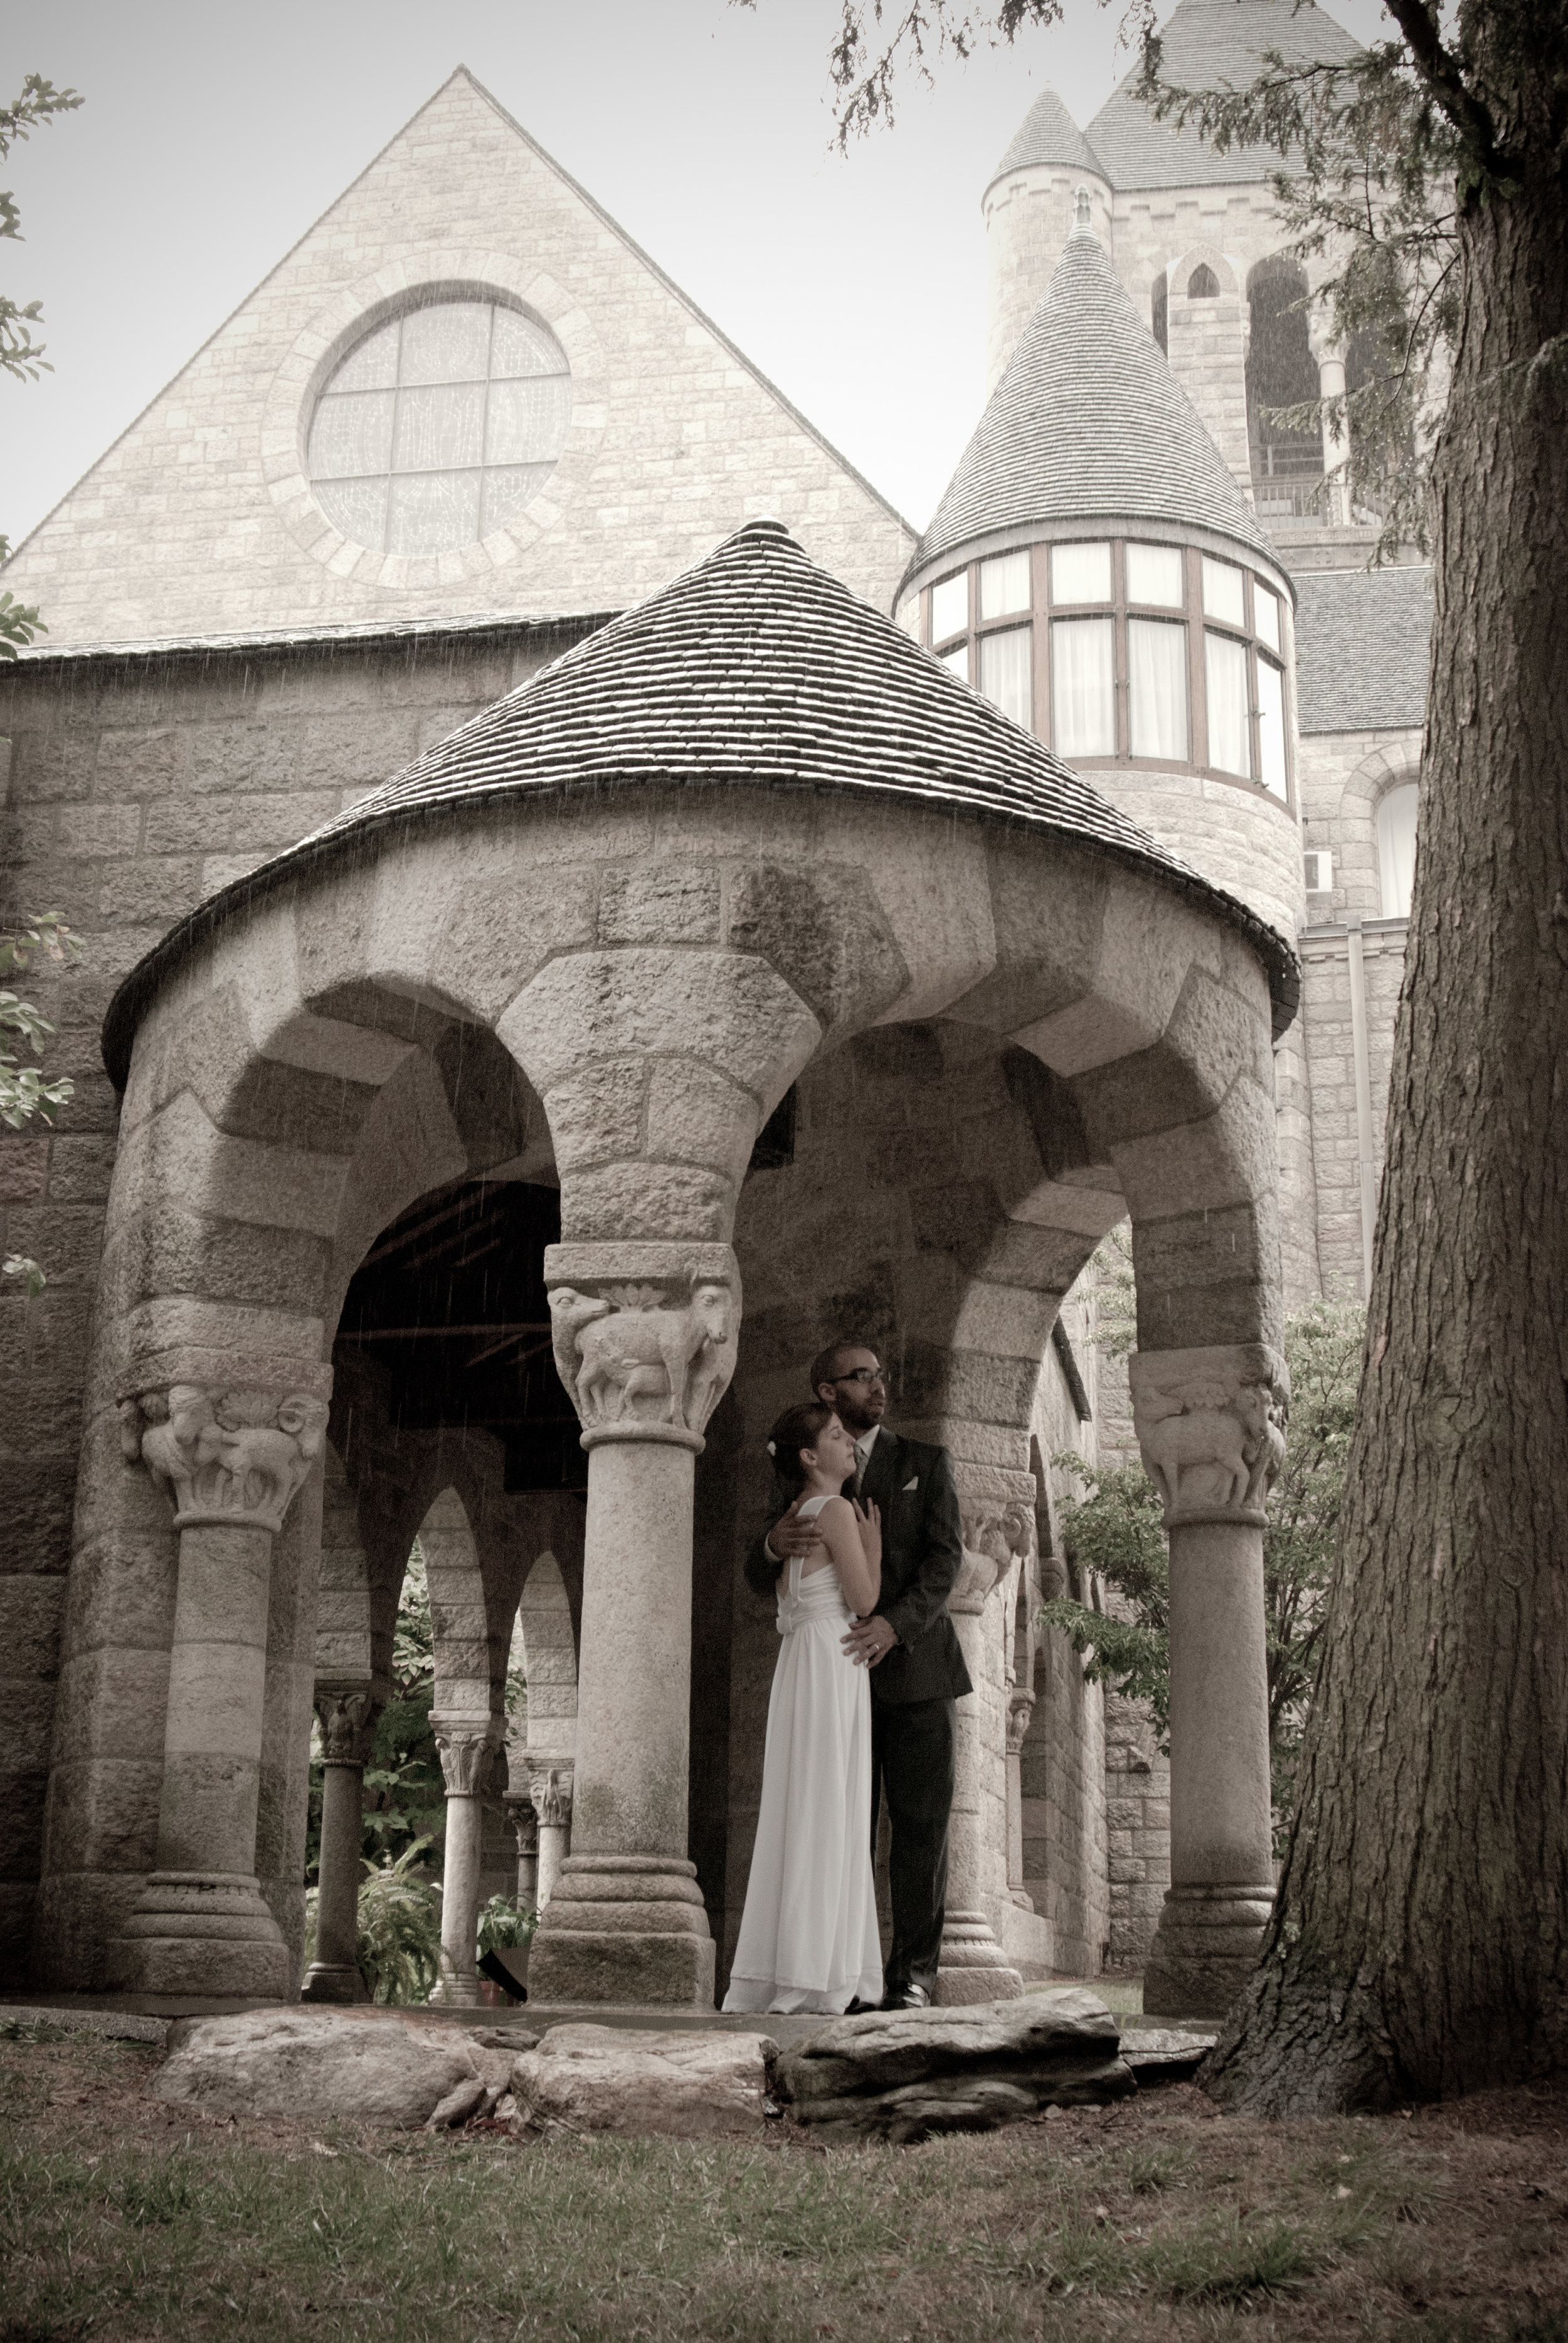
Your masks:
{"label": "grass lawn in the foreground below the flat rocks", "polygon": [[0,2041],[0,2343],[1568,2343],[1568,2099],[1523,2132],[1172,2088],[921,2149],[518,2146],[197,2118],[152,2064]]}

